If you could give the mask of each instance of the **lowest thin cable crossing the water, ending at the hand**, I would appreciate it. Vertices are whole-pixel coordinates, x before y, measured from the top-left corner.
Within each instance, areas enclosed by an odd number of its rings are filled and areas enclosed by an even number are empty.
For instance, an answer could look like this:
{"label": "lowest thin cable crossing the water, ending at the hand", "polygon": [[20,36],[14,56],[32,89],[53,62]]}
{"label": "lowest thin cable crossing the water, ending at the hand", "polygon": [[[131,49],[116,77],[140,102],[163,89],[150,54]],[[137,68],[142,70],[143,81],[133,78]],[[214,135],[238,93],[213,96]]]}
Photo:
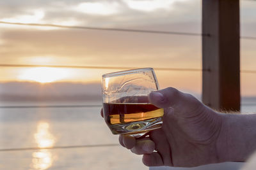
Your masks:
{"label": "lowest thin cable crossing the water, ending at the hand", "polygon": [[6,148],[0,149],[0,152],[10,152],[10,151],[24,151],[24,150],[52,150],[52,149],[67,149],[67,148],[93,148],[93,147],[110,147],[110,146],[120,146],[118,144],[102,144],[102,145],[74,145],[74,146],[52,146],[52,147],[31,147],[31,148]]}

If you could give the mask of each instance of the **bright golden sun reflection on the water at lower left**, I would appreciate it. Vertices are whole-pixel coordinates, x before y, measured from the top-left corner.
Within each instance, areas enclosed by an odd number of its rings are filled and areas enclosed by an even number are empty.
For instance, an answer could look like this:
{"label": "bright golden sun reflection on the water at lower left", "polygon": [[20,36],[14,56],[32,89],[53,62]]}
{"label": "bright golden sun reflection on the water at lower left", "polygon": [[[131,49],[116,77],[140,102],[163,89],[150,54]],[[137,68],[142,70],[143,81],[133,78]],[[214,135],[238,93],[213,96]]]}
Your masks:
{"label": "bright golden sun reflection on the water at lower left", "polygon": [[[39,122],[37,131],[34,134],[35,141],[39,148],[52,147],[55,143],[54,136],[49,132],[49,124],[47,122]],[[32,154],[32,166],[35,169],[48,169],[52,166],[53,155],[49,150],[39,150]]]}

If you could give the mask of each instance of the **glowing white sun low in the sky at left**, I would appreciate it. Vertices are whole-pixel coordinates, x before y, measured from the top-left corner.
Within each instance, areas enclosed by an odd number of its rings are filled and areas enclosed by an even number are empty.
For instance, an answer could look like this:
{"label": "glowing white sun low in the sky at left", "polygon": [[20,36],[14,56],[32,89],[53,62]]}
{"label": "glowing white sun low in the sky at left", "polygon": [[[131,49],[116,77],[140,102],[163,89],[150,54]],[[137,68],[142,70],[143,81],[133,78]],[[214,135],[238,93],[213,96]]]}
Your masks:
{"label": "glowing white sun low in the sky at left", "polygon": [[37,81],[40,83],[51,83],[70,76],[68,69],[53,67],[35,67],[22,71],[19,80]]}

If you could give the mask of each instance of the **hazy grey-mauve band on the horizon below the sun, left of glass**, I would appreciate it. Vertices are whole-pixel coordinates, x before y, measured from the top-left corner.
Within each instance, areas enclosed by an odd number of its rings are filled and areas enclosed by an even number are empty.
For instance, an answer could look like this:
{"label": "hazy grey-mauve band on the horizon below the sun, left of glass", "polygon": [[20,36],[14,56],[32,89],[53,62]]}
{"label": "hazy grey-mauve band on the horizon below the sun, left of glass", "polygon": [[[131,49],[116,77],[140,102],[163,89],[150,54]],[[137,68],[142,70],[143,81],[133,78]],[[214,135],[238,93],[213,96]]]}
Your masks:
{"label": "hazy grey-mauve band on the horizon below the sun, left of glass", "polygon": [[12,81],[0,83],[0,101],[66,101],[102,99],[100,83],[36,83]]}

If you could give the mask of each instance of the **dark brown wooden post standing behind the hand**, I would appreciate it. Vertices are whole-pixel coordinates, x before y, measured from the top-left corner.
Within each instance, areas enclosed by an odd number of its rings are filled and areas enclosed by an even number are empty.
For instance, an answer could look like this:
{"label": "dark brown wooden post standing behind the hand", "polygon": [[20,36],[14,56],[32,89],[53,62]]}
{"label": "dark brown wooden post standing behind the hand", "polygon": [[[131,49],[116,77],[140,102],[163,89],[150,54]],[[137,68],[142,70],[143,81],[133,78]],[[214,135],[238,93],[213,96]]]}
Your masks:
{"label": "dark brown wooden post standing behind the hand", "polygon": [[202,0],[202,100],[211,108],[240,110],[239,0]]}

